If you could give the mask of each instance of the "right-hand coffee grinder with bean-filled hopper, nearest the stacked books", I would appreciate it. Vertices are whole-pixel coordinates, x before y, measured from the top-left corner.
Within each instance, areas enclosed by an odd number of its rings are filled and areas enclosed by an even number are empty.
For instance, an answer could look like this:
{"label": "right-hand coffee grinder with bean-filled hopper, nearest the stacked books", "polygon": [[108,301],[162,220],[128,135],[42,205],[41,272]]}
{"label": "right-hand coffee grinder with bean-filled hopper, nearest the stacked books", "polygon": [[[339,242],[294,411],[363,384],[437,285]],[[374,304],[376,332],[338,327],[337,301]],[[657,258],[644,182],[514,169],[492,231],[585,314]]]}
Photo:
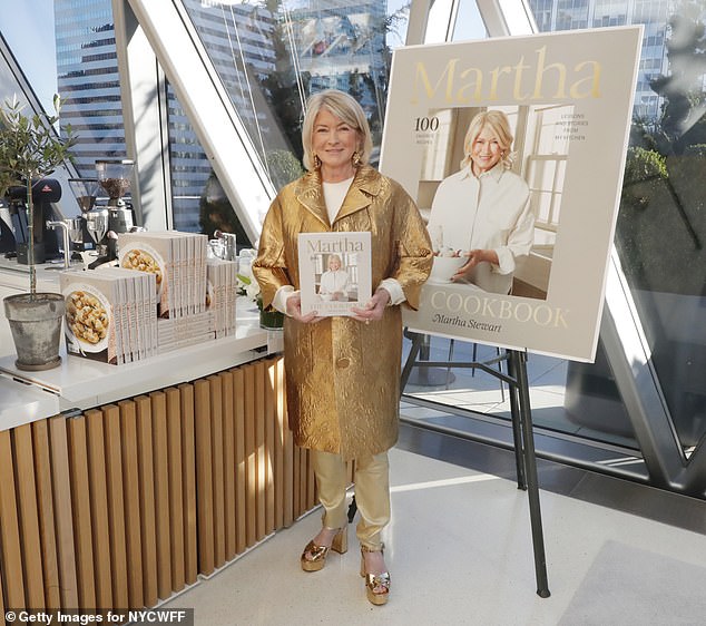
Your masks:
{"label": "right-hand coffee grinder with bean-filled hopper, nearest the stacked books", "polygon": [[130,189],[134,170],[135,162],[129,159],[96,162],[98,183],[108,194],[106,245],[110,260],[117,257],[117,235],[130,232],[135,224],[133,205],[124,199],[125,194]]}

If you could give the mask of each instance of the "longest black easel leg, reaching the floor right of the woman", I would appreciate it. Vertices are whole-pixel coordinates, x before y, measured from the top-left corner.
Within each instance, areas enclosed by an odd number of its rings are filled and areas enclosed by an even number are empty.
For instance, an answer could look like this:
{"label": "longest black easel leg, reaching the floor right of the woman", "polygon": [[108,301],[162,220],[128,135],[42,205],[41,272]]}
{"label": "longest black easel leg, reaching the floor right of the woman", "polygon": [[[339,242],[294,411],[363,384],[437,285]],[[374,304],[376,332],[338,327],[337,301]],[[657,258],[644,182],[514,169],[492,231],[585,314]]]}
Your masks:
{"label": "longest black easel leg, reaching the floor right of the woman", "polygon": [[537,480],[537,458],[535,456],[535,436],[530,412],[529,383],[527,381],[527,355],[516,350],[510,359],[514,360],[517,387],[520,394],[520,419],[522,420],[522,439],[524,442],[524,469],[527,473],[527,493],[529,498],[530,524],[532,527],[532,545],[535,547],[535,573],[537,577],[537,595],[548,598],[549,581],[547,579],[547,557],[545,555],[545,537],[539,506],[539,486]]}

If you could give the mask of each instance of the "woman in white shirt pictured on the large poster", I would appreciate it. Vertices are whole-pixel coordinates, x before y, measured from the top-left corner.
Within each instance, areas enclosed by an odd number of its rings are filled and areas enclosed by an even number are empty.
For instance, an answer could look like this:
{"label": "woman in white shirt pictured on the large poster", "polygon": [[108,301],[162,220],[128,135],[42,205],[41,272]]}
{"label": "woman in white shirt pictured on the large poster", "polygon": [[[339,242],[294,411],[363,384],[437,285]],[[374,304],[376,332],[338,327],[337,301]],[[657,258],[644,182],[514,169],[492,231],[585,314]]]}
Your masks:
{"label": "woman in white shirt pictured on the large poster", "polygon": [[441,182],[429,217],[434,253],[454,251],[468,257],[451,281],[502,294],[510,293],[518,258],[529,254],[535,233],[529,188],[510,172],[511,146],[502,111],[473,117],[461,170]]}

